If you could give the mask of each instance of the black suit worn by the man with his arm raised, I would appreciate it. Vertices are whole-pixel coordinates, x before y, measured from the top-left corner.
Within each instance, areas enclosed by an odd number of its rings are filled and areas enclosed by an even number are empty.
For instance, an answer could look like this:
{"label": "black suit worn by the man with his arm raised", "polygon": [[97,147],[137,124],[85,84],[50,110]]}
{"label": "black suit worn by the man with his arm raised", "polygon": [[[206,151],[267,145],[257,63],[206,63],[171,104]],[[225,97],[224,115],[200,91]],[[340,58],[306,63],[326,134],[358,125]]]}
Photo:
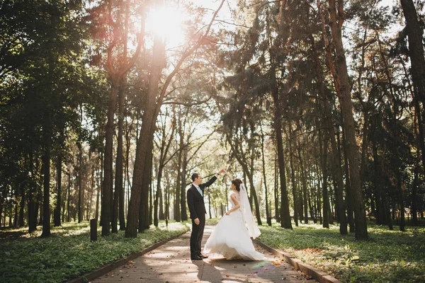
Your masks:
{"label": "black suit worn by the man with his arm raised", "polygon": [[[217,180],[217,177],[214,176],[207,183],[199,185],[200,190],[202,190],[202,195],[198,192],[198,189],[195,185],[191,185],[187,192],[187,200],[189,212],[191,212],[192,219],[192,233],[191,233],[191,258],[196,258],[200,255],[200,243],[203,237],[203,231],[205,228],[205,203],[203,200],[205,187],[209,187],[212,183]],[[195,224],[195,219],[199,219],[199,225]]]}

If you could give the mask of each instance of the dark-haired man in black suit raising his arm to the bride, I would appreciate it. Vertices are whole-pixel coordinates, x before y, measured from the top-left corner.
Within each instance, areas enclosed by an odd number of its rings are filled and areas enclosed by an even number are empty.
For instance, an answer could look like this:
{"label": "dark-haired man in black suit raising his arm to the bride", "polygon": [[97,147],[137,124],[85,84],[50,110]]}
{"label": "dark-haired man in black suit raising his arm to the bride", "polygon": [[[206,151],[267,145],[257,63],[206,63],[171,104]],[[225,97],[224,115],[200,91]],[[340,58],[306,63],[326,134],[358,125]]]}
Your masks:
{"label": "dark-haired man in black suit raising his arm to the bride", "polygon": [[199,173],[193,173],[192,175],[193,183],[187,192],[188,207],[192,219],[191,260],[208,258],[208,256],[200,253],[200,243],[205,228],[205,214],[207,213],[203,195],[205,187],[212,185],[221,173],[225,173],[225,170],[218,171],[207,183],[202,183],[202,177]]}

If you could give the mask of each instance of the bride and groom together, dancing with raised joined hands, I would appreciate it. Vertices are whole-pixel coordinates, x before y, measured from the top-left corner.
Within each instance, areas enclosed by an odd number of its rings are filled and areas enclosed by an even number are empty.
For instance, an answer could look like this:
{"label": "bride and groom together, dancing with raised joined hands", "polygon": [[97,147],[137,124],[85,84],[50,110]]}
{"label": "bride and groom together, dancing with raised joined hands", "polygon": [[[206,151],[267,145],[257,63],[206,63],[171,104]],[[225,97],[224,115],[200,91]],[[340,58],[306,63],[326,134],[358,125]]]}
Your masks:
{"label": "bride and groom together, dancing with raised joined hands", "polygon": [[242,180],[232,179],[224,169],[215,174],[208,182],[203,183],[199,173],[193,173],[193,183],[187,192],[187,202],[192,219],[191,233],[191,260],[203,260],[208,256],[200,253],[201,241],[205,228],[205,203],[203,200],[205,187],[209,187],[217,180],[218,176],[225,173],[232,180],[232,194],[229,202],[232,208],[220,219],[210,238],[205,243],[205,253],[219,253],[227,259],[263,260],[262,253],[255,250],[251,241],[260,235],[259,227],[254,219],[249,206],[246,187]]}

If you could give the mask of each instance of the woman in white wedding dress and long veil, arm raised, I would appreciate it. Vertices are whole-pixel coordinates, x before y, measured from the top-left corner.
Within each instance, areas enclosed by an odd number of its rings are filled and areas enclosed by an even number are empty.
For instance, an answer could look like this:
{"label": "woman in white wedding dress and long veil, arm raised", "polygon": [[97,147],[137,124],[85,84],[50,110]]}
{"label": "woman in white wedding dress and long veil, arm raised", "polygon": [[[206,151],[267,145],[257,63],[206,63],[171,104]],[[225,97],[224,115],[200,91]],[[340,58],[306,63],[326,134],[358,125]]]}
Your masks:
{"label": "woman in white wedding dress and long veil, arm raised", "polygon": [[[225,174],[232,180],[228,172]],[[219,253],[228,260],[264,260],[264,255],[255,250],[250,238],[258,237],[261,232],[254,223],[242,180],[232,180],[232,190],[229,197],[232,209],[226,212],[212,231],[205,243],[204,253]]]}

